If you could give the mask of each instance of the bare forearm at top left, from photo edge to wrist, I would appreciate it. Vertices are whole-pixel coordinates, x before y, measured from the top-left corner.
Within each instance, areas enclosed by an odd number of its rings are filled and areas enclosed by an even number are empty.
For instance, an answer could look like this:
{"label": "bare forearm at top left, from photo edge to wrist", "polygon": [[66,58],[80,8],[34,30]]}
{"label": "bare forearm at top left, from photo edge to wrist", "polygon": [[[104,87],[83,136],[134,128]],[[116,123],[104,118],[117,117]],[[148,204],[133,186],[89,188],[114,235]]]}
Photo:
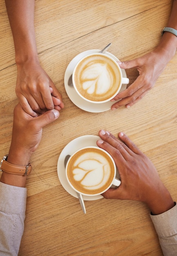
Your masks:
{"label": "bare forearm at top left, from photo edge to wrist", "polygon": [[34,0],[5,0],[15,46],[15,60],[20,64],[38,60],[34,30]]}

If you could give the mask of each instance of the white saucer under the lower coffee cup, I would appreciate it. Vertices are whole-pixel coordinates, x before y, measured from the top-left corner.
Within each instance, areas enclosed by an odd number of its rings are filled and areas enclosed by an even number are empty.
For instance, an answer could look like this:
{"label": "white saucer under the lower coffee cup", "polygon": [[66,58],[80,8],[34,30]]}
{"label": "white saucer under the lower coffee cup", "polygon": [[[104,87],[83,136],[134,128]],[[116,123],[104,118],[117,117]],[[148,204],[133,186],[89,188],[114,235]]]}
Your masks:
{"label": "white saucer under the lower coffee cup", "polygon": [[[95,135],[85,135],[78,137],[76,139],[73,139],[72,141],[67,144],[64,149],[62,150],[59,158],[58,158],[58,164],[57,164],[57,172],[58,177],[60,180],[60,183],[62,184],[63,188],[70,194],[73,195],[75,198],[77,197],[77,193],[71,188],[69,183],[66,180],[65,175],[65,167],[64,167],[64,159],[66,155],[72,155],[76,150],[86,147],[86,146],[97,146],[96,141],[100,139],[99,136]],[[86,196],[83,195],[84,200],[92,201],[103,198],[102,195],[95,195],[95,196]]]}

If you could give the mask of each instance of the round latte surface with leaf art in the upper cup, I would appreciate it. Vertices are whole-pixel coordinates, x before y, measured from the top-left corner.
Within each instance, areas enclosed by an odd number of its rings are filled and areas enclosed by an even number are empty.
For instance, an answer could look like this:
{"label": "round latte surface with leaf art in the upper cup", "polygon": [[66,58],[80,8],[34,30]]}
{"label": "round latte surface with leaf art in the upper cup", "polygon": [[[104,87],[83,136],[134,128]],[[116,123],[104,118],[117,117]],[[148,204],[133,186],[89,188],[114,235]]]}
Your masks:
{"label": "round latte surface with leaf art in the upper cup", "polygon": [[74,75],[78,92],[91,101],[104,101],[119,88],[121,74],[117,65],[104,55],[91,55],[77,66]]}

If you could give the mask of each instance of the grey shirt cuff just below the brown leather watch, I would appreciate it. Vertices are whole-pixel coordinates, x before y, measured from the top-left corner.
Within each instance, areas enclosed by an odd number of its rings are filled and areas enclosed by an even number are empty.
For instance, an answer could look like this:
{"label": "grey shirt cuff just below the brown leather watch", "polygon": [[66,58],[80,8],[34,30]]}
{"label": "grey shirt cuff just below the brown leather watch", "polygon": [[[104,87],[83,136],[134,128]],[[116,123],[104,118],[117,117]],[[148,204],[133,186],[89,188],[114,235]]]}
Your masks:
{"label": "grey shirt cuff just below the brown leather watch", "polygon": [[11,186],[0,182],[0,211],[24,213],[27,202],[27,188]]}

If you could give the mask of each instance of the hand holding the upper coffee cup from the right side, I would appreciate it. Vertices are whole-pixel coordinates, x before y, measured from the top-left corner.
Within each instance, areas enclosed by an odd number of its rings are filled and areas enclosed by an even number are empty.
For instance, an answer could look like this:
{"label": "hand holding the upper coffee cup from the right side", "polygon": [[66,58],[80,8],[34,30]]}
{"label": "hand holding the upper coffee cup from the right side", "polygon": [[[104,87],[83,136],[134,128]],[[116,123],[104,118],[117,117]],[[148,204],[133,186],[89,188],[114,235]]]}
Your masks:
{"label": "hand holding the upper coffee cup from the right side", "polygon": [[167,55],[168,52],[165,49],[157,47],[155,50],[142,57],[131,61],[118,62],[122,69],[136,68],[139,72],[139,76],[126,90],[119,92],[114,99],[111,100],[119,100],[111,106],[111,109],[114,110],[120,106],[126,106],[128,108],[142,99],[148,90],[154,87],[157,78],[166,67],[169,61]]}

